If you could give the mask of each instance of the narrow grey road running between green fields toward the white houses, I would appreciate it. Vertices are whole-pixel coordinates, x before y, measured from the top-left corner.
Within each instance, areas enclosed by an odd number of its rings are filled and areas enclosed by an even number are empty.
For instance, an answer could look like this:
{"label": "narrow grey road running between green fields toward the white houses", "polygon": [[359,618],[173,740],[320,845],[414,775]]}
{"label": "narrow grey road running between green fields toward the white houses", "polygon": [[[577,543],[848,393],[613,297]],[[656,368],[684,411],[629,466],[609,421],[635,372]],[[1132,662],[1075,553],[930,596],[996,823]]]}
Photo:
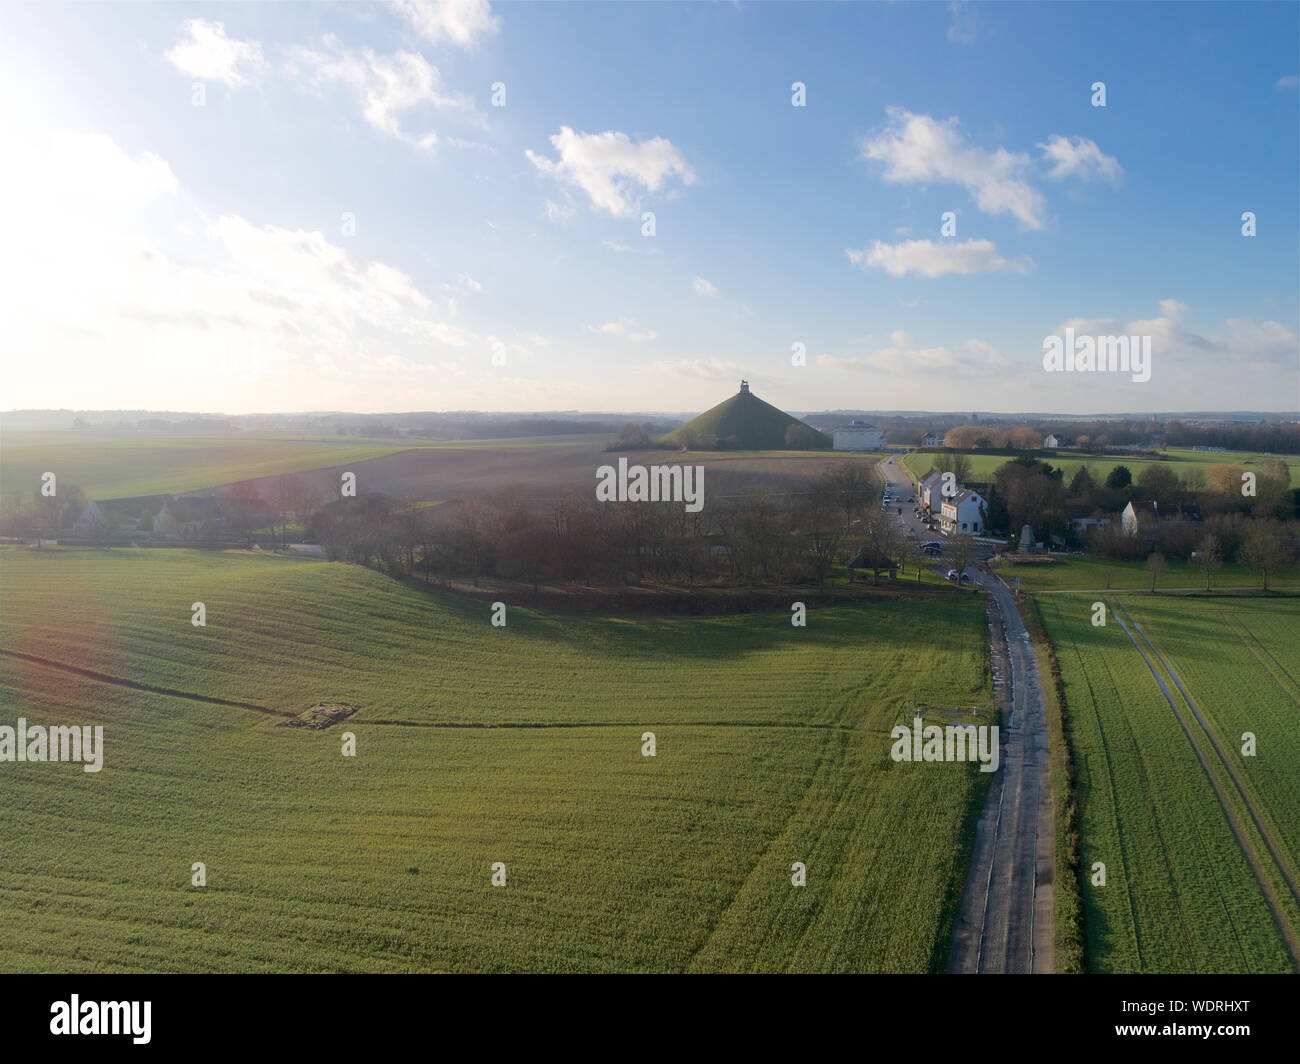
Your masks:
{"label": "narrow grey road running between green fields toward the white houses", "polygon": [[[911,480],[896,458],[878,468],[894,498],[913,494]],[[902,507],[904,525],[919,528],[906,501]],[[996,693],[1002,710],[1002,751],[975,832],[949,970],[1052,972],[1056,835],[1037,661],[1006,584],[984,568],[972,570],[989,592],[989,645],[994,676],[1001,678]]]}

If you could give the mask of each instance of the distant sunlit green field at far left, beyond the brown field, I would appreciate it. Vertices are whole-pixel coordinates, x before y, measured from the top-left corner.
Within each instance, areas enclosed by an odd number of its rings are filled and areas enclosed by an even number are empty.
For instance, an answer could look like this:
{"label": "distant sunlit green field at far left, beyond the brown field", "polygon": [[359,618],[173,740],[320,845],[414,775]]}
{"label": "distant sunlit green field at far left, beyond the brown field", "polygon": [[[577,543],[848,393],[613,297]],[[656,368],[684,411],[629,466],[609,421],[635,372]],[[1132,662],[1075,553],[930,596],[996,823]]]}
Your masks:
{"label": "distant sunlit green field at far left, beyond the brown field", "polygon": [[96,436],[82,432],[0,434],[0,494],[35,490],[51,471],[91,498],[195,492],[239,480],[328,470],[406,450],[520,450],[603,442],[604,436],[516,440],[368,440],[355,436]]}

